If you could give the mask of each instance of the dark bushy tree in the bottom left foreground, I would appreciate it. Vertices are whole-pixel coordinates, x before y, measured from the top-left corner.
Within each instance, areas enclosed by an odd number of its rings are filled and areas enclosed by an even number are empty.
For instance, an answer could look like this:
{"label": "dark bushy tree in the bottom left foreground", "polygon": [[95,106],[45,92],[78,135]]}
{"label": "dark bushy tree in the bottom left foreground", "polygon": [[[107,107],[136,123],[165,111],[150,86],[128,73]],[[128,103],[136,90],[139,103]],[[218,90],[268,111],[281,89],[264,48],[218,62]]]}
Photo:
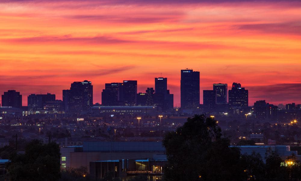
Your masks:
{"label": "dark bushy tree in the bottom left foreground", "polygon": [[13,154],[8,164],[10,181],[57,181],[60,178],[60,148],[51,142],[33,140],[25,154]]}

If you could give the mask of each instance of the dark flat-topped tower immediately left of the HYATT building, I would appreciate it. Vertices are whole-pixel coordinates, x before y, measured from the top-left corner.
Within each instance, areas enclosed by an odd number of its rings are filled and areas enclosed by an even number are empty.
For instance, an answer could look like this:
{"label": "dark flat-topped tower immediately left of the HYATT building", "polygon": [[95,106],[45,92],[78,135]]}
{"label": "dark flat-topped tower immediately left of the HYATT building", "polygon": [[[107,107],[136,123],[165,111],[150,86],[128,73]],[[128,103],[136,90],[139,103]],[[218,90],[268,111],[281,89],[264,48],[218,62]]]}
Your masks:
{"label": "dark flat-topped tower immediately left of the HYATT building", "polygon": [[123,81],[123,103],[125,106],[136,106],[137,81]]}

